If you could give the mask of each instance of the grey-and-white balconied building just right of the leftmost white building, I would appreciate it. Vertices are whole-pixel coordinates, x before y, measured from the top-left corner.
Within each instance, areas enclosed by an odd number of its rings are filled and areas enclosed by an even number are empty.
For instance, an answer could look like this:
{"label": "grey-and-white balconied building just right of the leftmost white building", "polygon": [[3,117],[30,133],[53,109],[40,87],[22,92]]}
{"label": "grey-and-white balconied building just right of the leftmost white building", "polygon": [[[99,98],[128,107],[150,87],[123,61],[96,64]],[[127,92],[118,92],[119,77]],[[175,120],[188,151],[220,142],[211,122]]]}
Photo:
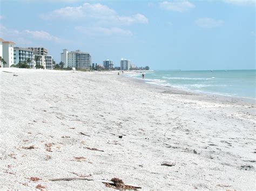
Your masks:
{"label": "grey-and-white balconied building just right of the leftmost white building", "polygon": [[28,48],[14,47],[14,65],[17,65],[19,62],[26,62],[27,60],[30,68],[33,68],[33,52]]}

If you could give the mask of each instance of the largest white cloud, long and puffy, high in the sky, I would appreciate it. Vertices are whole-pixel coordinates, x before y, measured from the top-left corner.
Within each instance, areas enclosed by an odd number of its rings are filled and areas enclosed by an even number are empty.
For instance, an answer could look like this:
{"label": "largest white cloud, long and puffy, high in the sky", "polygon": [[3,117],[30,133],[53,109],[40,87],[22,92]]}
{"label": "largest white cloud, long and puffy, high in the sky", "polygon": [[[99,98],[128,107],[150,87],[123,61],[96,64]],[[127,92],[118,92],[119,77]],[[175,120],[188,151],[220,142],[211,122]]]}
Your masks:
{"label": "largest white cloud, long and puffy, high in the sky", "polygon": [[131,25],[134,23],[148,23],[148,19],[142,14],[132,16],[119,16],[116,11],[100,3],[84,3],[82,6],[67,6],[54,10],[41,16],[44,19],[92,19],[99,23]]}

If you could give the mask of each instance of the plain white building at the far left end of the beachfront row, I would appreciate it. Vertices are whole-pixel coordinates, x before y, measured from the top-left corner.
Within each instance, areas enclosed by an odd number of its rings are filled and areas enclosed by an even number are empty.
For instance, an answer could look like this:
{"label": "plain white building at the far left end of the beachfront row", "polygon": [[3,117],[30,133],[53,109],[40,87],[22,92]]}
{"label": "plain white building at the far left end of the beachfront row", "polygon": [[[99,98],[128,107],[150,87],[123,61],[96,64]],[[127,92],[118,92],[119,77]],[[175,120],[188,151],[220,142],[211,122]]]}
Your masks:
{"label": "plain white building at the far left end of the beachfront row", "polygon": [[3,41],[3,59],[6,65],[3,67],[11,67],[14,64],[14,45],[12,41]]}

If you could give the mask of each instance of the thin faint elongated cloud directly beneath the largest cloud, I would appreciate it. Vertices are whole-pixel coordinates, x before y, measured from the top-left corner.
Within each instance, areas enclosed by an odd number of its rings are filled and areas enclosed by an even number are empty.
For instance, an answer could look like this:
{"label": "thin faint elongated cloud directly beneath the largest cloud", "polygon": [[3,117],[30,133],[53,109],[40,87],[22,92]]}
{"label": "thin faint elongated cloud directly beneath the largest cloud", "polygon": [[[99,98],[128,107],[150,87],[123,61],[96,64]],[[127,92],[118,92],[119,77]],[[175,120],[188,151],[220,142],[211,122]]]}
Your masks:
{"label": "thin faint elongated cloud directly beneath the largest cloud", "polygon": [[132,32],[129,30],[123,30],[118,27],[83,27],[83,26],[76,26],[76,30],[83,32],[90,36],[111,36],[111,35],[120,35],[120,36],[132,36]]}

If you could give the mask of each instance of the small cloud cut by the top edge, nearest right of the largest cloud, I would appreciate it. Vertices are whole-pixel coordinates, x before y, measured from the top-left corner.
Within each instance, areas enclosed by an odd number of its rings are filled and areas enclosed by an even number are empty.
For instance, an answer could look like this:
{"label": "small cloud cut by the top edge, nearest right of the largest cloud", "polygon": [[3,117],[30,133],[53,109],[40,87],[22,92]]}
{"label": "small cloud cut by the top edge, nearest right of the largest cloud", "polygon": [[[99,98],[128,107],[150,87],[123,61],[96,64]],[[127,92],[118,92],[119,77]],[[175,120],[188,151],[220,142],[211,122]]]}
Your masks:
{"label": "small cloud cut by the top edge, nearest right of the largest cloud", "polygon": [[164,1],[159,3],[159,6],[162,9],[177,11],[177,12],[185,12],[195,7],[194,4],[188,1],[173,1],[173,2]]}

